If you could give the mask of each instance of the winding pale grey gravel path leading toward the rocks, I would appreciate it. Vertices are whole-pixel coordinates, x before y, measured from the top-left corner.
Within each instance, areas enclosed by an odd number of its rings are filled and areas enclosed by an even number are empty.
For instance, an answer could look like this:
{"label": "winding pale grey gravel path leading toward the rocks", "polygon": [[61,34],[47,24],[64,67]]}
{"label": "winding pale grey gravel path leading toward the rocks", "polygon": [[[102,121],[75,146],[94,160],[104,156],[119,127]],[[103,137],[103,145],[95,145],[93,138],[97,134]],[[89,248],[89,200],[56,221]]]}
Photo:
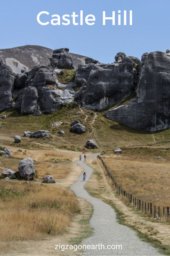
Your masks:
{"label": "winding pale grey gravel path leading toward the rocks", "polygon": [[[88,158],[96,156],[97,154],[93,154]],[[82,156],[82,158],[84,157]],[[86,181],[83,182],[83,175],[81,174],[71,189],[77,197],[86,199],[94,207],[94,213],[90,220],[90,224],[94,228],[94,235],[82,241],[82,245],[100,244],[101,246],[102,243],[105,246],[105,249],[86,249],[84,255],[161,255],[150,244],[141,241],[134,230],[119,224],[116,220],[116,213],[110,205],[87,193],[84,185],[93,170],[85,164],[84,159],[82,160],[76,162],[86,172]],[[107,249],[107,245],[122,245],[122,249]]]}

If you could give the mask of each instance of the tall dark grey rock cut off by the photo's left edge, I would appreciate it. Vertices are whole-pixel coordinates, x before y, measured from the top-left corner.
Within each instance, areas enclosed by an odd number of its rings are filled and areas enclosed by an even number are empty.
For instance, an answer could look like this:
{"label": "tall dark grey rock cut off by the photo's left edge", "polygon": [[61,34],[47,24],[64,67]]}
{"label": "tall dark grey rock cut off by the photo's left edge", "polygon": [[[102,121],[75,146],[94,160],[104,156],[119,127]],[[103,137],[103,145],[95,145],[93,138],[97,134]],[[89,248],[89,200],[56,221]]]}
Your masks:
{"label": "tall dark grey rock cut off by the photo's left edge", "polygon": [[14,80],[12,69],[0,59],[0,113],[12,106]]}

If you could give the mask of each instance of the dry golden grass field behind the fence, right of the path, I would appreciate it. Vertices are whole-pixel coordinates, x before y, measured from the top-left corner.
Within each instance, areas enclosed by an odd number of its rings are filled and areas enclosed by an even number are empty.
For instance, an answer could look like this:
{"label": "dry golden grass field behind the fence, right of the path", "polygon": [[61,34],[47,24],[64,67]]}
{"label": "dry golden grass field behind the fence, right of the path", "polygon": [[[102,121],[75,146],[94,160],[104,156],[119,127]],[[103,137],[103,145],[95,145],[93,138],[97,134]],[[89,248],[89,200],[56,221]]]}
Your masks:
{"label": "dry golden grass field behind the fence, right of the path", "polygon": [[[158,156],[163,159],[156,159]],[[123,148],[107,152],[104,162],[118,185],[135,197],[160,207],[170,206],[169,149]]]}

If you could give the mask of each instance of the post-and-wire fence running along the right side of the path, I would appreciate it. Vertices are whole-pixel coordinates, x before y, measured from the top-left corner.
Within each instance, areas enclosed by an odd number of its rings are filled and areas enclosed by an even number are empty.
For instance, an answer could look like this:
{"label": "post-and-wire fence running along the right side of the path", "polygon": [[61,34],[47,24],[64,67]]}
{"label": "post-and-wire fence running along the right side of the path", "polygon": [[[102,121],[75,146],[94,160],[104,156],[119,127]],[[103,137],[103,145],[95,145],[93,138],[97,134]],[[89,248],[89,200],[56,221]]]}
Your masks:
{"label": "post-and-wire fence running along the right side of the path", "polygon": [[169,207],[160,207],[150,202],[143,201],[137,198],[135,195],[132,195],[128,191],[125,191],[122,187],[118,185],[112,174],[109,172],[107,165],[103,161],[104,157],[98,155],[97,158],[99,158],[99,160],[101,161],[103,167],[105,168],[105,171],[107,172],[107,176],[111,179],[115,190],[122,198],[127,200],[129,204],[133,205],[133,207],[136,207],[138,210],[141,210],[149,216],[153,216],[154,218],[160,218],[161,220],[168,222],[170,221]]}

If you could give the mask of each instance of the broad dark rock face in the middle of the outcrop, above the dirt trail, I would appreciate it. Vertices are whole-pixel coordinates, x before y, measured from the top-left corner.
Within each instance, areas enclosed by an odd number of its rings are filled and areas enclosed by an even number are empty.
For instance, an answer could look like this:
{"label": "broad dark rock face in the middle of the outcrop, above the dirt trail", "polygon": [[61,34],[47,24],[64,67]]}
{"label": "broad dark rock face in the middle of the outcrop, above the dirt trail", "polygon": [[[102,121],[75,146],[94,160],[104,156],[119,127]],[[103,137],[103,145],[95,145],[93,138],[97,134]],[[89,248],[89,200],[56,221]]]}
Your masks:
{"label": "broad dark rock face in the middle of the outcrop, above the dirt trail", "polygon": [[135,63],[123,57],[117,63],[78,65],[75,82],[81,86],[75,100],[84,108],[103,110],[128,97],[137,79]]}

